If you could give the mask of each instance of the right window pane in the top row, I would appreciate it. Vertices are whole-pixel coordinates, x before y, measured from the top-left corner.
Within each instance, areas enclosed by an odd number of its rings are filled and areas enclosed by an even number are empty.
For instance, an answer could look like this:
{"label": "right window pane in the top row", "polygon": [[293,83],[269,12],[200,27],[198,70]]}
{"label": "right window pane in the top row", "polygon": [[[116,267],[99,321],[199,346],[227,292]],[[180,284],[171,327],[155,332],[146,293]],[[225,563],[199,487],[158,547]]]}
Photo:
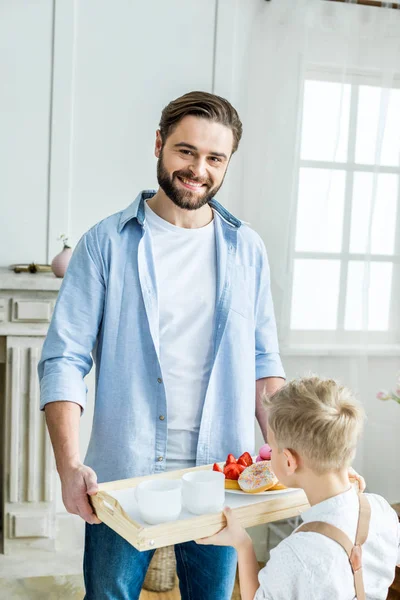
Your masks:
{"label": "right window pane in the top row", "polygon": [[[400,164],[400,89],[359,88],[356,162]],[[382,138],[380,154],[380,142]]]}

